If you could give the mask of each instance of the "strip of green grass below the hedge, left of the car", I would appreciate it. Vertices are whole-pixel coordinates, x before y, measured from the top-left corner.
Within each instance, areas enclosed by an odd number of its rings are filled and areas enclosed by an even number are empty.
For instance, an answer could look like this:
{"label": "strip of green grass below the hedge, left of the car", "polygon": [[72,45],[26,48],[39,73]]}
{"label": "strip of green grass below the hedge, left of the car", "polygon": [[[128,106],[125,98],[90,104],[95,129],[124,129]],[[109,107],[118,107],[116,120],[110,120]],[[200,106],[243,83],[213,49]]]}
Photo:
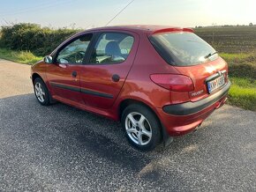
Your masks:
{"label": "strip of green grass below the hedge, left of the car", "polygon": [[5,48],[0,48],[0,58],[25,64],[33,64],[42,59],[41,56],[35,56],[30,51],[13,51]]}

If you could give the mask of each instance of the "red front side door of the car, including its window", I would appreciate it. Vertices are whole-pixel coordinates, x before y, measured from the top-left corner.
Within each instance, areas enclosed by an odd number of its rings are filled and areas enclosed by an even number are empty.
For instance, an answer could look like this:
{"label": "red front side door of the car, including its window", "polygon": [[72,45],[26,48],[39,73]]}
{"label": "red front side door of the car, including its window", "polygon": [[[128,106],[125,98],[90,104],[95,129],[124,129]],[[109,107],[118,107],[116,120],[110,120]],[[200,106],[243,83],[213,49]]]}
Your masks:
{"label": "red front side door of the car, including its window", "polygon": [[80,70],[93,34],[87,33],[64,43],[56,51],[54,63],[47,67],[52,96],[71,105],[82,105]]}

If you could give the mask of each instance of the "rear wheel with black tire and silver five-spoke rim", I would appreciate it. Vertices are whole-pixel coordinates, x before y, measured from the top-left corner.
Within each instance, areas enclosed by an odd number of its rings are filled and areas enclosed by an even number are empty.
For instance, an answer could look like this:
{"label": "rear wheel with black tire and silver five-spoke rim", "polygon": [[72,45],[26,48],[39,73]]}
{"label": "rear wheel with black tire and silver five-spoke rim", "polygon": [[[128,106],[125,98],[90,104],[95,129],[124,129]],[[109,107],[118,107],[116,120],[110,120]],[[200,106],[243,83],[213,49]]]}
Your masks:
{"label": "rear wheel with black tire and silver five-spoke rim", "polygon": [[141,151],[153,150],[161,141],[161,124],[145,106],[132,104],[126,107],[121,123],[129,143]]}

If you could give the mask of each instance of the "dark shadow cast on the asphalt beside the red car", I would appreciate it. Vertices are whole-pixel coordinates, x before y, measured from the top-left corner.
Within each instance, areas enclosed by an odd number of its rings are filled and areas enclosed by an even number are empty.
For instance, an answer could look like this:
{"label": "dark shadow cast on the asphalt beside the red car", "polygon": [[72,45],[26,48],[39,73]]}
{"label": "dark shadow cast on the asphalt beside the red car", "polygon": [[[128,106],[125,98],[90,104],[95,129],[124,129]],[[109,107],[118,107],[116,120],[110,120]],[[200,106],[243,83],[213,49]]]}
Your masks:
{"label": "dark shadow cast on the asphalt beside the red car", "polygon": [[132,170],[140,170],[150,161],[126,143],[119,122],[61,103],[43,107],[34,94],[2,99],[1,124],[8,132],[21,131],[19,139],[27,139],[27,143],[43,141],[45,150],[57,145],[63,154],[71,148],[72,154],[80,156],[89,151]]}

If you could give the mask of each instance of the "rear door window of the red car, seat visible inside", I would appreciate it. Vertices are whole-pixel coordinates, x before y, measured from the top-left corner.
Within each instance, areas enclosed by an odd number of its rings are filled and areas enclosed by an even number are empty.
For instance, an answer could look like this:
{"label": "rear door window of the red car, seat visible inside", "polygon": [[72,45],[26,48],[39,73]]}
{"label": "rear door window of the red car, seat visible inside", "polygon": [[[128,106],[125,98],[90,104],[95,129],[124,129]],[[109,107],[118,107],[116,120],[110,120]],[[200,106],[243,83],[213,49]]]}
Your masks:
{"label": "rear door window of the red car, seat visible inside", "polygon": [[89,63],[122,63],[131,49],[134,38],[126,33],[102,33]]}

